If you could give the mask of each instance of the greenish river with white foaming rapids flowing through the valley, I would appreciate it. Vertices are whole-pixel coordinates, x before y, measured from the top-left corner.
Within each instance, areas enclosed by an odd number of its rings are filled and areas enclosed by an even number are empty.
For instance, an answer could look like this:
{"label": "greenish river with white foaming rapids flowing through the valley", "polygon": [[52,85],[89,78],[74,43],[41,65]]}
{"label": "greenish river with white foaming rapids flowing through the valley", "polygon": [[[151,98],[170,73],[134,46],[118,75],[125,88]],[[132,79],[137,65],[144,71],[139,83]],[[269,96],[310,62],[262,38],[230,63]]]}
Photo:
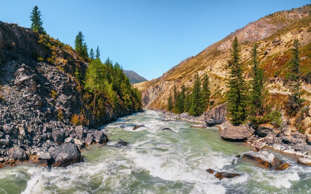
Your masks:
{"label": "greenish river with white foaming rapids flowing through the valley", "polygon": [[[163,114],[146,111],[102,126],[108,146],[82,149],[85,162],[67,168],[22,163],[0,169],[0,194],[309,194],[311,167],[289,155],[285,171],[264,169],[236,155],[251,148],[224,141],[218,128],[190,129],[191,123],[162,122]],[[145,125],[133,131],[136,124]],[[161,130],[170,128],[169,130]],[[130,143],[115,147],[118,139]],[[205,170],[242,174],[218,180]]]}

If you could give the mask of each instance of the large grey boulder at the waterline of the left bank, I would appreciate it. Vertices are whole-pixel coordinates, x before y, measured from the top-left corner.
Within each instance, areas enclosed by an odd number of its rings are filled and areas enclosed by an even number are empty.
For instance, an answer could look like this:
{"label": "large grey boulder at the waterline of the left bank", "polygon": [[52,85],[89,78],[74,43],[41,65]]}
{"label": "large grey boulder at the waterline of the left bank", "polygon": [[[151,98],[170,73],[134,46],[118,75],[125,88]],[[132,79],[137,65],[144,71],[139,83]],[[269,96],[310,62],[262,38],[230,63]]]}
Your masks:
{"label": "large grey boulder at the waterline of the left bank", "polygon": [[51,162],[53,167],[67,167],[71,164],[83,161],[78,146],[73,143],[66,143],[57,147],[51,147],[49,149],[49,153],[54,160]]}

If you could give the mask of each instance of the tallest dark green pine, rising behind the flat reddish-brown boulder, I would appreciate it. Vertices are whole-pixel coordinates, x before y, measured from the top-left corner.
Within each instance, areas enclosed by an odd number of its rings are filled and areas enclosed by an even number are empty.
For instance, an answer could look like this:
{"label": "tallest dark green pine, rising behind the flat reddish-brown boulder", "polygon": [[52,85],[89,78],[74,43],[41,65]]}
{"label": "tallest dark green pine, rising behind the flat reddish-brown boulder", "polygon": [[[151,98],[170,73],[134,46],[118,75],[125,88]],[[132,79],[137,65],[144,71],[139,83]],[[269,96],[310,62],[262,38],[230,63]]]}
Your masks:
{"label": "tallest dark green pine, rising behind the flat reddish-brown boulder", "polygon": [[234,38],[229,61],[230,75],[228,81],[228,105],[233,125],[240,125],[246,119],[245,80],[240,64],[240,49],[237,38]]}

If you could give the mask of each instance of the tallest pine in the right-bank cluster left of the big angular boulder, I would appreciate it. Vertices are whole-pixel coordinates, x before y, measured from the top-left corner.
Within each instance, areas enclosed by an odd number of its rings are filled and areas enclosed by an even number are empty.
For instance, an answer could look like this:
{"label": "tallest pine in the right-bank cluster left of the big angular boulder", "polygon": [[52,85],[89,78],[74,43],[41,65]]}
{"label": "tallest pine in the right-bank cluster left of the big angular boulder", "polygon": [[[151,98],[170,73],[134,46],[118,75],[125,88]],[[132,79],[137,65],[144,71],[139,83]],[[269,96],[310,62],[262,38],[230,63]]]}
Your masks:
{"label": "tallest pine in the right-bank cluster left of the big angular boulder", "polygon": [[201,115],[200,110],[200,93],[201,93],[201,87],[200,87],[200,78],[198,72],[194,75],[194,84],[192,88],[192,94],[191,94],[191,107],[189,110],[189,115],[198,117]]}

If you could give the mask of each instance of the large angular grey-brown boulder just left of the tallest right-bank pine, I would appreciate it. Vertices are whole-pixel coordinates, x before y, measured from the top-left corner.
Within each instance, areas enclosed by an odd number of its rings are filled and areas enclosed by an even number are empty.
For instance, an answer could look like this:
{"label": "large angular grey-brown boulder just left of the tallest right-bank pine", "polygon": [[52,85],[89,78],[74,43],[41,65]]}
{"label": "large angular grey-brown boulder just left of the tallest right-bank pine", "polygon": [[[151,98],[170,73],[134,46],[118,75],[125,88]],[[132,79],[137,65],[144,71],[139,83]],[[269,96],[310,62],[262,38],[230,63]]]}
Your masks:
{"label": "large angular grey-brown boulder just left of the tallest right-bank pine", "polygon": [[204,120],[207,126],[215,126],[225,122],[227,114],[226,104],[218,105],[204,114]]}

